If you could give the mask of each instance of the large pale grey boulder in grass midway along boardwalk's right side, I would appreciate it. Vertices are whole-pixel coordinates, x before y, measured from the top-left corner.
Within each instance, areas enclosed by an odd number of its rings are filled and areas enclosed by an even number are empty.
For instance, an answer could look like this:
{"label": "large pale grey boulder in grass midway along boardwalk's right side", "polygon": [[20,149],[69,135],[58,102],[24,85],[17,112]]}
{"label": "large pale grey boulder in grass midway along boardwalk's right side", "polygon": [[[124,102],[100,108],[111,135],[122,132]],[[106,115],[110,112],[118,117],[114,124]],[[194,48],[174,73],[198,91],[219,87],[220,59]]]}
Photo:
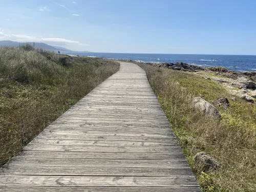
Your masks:
{"label": "large pale grey boulder in grass midway along boardwalk's right side", "polygon": [[221,119],[221,114],[215,108],[215,106],[202,99],[201,97],[195,97],[192,101],[192,106],[193,108],[201,111],[204,115],[212,116],[217,120]]}

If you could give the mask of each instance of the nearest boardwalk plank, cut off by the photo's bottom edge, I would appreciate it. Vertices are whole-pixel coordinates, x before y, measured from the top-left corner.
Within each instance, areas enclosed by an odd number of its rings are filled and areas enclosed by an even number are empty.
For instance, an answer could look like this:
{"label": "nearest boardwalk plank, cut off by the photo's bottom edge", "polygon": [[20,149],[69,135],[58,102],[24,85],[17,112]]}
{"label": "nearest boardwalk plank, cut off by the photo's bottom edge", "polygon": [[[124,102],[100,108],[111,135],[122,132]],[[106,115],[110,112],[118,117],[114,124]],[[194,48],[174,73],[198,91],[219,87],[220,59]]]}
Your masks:
{"label": "nearest boardwalk plank, cut off by the photo's bottom edge", "polygon": [[198,187],[63,187],[63,186],[1,186],[0,191],[2,192],[201,192]]}

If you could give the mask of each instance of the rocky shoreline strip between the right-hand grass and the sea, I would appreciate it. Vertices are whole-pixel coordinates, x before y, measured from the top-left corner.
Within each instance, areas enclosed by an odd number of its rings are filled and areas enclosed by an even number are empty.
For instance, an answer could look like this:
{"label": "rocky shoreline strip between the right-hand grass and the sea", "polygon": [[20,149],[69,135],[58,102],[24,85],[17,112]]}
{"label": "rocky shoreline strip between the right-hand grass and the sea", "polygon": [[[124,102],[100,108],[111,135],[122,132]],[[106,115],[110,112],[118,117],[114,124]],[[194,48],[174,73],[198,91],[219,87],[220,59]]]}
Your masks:
{"label": "rocky shoreline strip between the right-hand grass and the sea", "polygon": [[[227,91],[233,96],[237,96],[251,103],[256,102],[256,72],[230,71],[224,67],[202,68],[199,66],[188,65],[183,62],[144,64],[200,75],[207,80],[213,80],[223,84]],[[233,99],[236,98],[234,97]]]}

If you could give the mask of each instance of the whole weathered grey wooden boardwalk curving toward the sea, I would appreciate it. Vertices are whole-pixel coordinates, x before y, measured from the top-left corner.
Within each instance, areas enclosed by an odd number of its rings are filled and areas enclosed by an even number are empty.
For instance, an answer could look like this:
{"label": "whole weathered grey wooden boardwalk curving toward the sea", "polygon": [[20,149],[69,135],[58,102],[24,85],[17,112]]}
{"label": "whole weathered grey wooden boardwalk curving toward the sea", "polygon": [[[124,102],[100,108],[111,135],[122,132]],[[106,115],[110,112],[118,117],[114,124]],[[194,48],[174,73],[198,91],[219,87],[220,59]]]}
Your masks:
{"label": "whole weathered grey wooden boardwalk curving toward the sea", "polygon": [[133,63],[12,158],[0,191],[200,191],[168,120]]}

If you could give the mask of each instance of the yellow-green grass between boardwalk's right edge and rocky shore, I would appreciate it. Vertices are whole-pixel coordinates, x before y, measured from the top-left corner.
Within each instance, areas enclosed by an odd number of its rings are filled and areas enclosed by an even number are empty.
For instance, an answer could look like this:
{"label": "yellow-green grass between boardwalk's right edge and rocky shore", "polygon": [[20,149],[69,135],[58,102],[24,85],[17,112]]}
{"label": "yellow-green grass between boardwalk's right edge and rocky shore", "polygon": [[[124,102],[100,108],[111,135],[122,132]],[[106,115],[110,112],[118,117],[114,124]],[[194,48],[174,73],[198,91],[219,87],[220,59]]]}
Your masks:
{"label": "yellow-green grass between boardwalk's right edge and rocky shore", "polygon": [[[256,107],[240,98],[231,101],[221,84],[199,75],[138,63],[147,74],[153,91],[178,137],[202,191],[256,191]],[[219,97],[231,106],[218,108],[222,120],[204,117],[191,109],[200,96],[208,102]],[[202,173],[193,157],[206,152],[222,163],[217,171]]]}

